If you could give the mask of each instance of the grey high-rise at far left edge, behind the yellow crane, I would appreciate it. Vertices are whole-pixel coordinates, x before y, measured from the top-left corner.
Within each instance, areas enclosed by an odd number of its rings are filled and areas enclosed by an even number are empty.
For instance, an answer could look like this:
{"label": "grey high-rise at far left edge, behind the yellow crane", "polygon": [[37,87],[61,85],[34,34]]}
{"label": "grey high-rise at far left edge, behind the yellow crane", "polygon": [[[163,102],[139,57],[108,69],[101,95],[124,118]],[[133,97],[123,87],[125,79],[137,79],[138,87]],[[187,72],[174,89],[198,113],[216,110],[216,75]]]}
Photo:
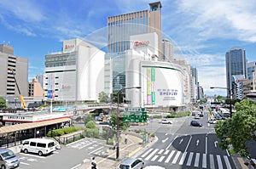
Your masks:
{"label": "grey high-rise at far left edge, behind the yellow crane", "polygon": [[[14,47],[0,45],[0,95],[3,97],[18,97],[28,95],[28,59],[14,55]],[[15,72],[15,76],[12,73]],[[20,93],[18,91],[18,83]]]}

